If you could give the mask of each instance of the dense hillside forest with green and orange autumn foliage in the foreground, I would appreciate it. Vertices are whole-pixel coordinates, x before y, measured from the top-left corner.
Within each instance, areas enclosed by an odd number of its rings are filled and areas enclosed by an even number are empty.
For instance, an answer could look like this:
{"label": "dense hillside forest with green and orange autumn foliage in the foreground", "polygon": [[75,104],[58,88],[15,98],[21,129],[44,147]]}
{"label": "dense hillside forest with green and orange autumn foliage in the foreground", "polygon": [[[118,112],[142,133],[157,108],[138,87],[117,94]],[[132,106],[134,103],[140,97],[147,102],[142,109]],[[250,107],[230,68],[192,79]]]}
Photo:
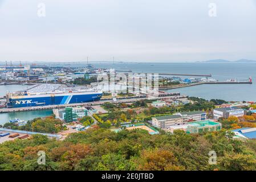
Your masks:
{"label": "dense hillside forest with green and orange autumn foliage in the foreground", "polygon": [[[64,140],[33,135],[0,144],[0,170],[255,170],[256,141],[226,130],[202,134],[94,128]],[[46,163],[38,164],[38,152]],[[217,163],[209,163],[215,151]]]}

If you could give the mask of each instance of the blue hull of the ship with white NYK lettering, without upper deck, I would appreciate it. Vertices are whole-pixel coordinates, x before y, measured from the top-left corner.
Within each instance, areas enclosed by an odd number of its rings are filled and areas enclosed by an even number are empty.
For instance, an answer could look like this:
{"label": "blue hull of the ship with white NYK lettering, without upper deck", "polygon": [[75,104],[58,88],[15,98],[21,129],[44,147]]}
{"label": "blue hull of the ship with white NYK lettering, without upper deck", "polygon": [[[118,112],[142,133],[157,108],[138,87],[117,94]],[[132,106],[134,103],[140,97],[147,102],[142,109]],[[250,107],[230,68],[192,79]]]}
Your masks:
{"label": "blue hull of the ship with white NYK lettering, without upper deck", "polygon": [[84,102],[99,101],[102,93],[90,94],[52,94],[49,96],[22,96],[18,98],[9,98],[8,107],[33,107],[47,105],[63,105]]}

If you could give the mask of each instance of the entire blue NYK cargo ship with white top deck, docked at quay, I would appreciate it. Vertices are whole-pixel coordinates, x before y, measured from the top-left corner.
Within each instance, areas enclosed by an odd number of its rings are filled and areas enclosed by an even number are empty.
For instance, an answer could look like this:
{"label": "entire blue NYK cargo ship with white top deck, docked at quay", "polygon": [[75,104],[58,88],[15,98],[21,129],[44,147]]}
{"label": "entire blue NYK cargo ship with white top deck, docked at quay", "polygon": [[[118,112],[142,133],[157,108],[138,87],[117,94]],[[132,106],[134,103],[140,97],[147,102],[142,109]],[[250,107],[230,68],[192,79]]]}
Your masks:
{"label": "entire blue NYK cargo ship with white top deck, docked at quay", "polygon": [[7,93],[8,107],[32,107],[63,105],[99,101],[102,91],[95,89],[66,89],[51,92],[15,92]]}

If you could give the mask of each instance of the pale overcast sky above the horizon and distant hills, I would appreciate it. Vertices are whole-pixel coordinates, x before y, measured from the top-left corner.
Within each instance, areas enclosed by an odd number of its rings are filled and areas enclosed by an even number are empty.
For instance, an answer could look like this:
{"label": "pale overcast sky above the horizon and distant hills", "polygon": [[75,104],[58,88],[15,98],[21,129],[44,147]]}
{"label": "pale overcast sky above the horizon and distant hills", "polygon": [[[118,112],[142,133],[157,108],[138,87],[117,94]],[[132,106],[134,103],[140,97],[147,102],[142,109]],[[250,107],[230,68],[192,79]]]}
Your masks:
{"label": "pale overcast sky above the horizon and distant hills", "polygon": [[0,61],[256,60],[256,0],[0,0],[0,26]]}

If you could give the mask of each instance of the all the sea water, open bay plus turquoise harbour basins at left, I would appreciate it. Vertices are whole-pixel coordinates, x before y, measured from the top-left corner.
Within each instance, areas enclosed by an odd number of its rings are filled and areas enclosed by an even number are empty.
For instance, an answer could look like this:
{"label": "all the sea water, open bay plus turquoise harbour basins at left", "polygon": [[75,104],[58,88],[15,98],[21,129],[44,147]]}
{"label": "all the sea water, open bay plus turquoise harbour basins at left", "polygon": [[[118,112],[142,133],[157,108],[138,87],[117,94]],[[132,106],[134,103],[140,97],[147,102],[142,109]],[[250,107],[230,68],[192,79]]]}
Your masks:
{"label": "all the sea water, open bay plus turquoise harbour basins at left", "polygon": [[[218,81],[226,81],[230,78],[237,80],[249,80],[253,78],[253,84],[205,84],[189,86],[185,88],[170,89],[166,92],[180,92],[182,95],[210,99],[222,99],[226,101],[256,101],[256,63],[91,63],[95,68],[116,69],[121,71],[131,70],[133,73],[178,73],[212,75]],[[86,63],[60,63],[64,67],[86,67]],[[172,77],[172,76],[170,76]],[[192,78],[194,76],[179,76]],[[196,78],[196,77],[194,77]],[[14,92],[27,89],[26,85],[0,85],[0,96],[7,91]],[[20,118],[29,120],[36,117],[51,115],[50,110],[25,111],[20,113],[0,114],[0,124],[9,119]]]}

